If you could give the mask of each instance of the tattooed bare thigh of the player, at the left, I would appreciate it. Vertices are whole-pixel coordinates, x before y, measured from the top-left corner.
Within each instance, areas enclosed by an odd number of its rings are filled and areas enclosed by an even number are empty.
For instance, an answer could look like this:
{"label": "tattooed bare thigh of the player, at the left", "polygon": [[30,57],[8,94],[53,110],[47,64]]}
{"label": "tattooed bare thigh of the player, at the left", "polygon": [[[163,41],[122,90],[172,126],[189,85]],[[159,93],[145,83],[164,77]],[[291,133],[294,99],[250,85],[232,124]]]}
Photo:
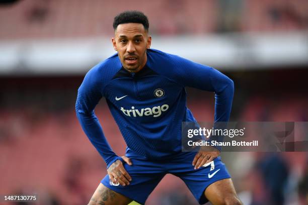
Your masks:
{"label": "tattooed bare thigh of the player, at the left", "polygon": [[100,183],[90,199],[89,205],[128,204],[132,199],[117,193]]}

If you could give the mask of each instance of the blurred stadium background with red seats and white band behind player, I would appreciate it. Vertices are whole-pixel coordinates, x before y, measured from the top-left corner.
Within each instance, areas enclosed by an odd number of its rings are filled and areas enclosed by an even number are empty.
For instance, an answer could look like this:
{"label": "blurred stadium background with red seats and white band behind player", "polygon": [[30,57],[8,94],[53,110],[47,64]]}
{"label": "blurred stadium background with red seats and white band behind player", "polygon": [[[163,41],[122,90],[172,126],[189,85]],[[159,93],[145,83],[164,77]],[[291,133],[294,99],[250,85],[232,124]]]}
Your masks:
{"label": "blurred stadium background with red seats and white band behind player", "polygon": [[[37,193],[38,204],[88,202],[106,165],[75,117],[76,91],[114,53],[112,21],[124,10],[148,16],[152,48],[235,81],[232,121],[308,121],[306,0],[8,2],[0,6],[0,194]],[[213,94],[187,90],[196,119],[212,121]],[[104,99],[96,114],[123,155]],[[221,155],[244,204],[308,204],[307,152]],[[167,175],[146,204],[197,201]]]}

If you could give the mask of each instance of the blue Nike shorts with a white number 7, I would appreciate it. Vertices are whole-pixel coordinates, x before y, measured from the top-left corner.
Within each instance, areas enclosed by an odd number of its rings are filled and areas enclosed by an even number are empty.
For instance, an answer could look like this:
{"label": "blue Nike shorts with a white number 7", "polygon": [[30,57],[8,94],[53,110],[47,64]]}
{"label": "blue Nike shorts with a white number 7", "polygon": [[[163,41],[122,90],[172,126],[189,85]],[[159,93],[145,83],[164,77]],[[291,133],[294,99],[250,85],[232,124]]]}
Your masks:
{"label": "blue Nike shorts with a white number 7", "polygon": [[128,149],[125,156],[131,159],[132,165],[123,164],[132,178],[129,185],[113,184],[108,174],[102,179],[101,183],[117,193],[144,204],[162,178],[170,173],[181,178],[197,201],[203,204],[208,201],[203,194],[205,188],[215,181],[230,178],[230,175],[220,157],[199,169],[194,169],[192,161],[195,155],[196,152],[181,152],[172,160],[149,161]]}

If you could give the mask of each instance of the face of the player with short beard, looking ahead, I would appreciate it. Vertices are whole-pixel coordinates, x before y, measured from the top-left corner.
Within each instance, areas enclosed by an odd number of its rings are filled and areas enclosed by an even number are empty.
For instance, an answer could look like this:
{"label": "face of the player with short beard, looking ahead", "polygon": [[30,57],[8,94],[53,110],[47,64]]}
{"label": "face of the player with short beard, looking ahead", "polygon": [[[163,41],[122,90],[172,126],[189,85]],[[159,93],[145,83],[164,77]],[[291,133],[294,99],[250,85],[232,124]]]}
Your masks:
{"label": "face of the player with short beard, looking ahead", "polygon": [[146,63],[146,49],[151,44],[151,37],[142,24],[120,24],[115,30],[112,44],[123,67],[129,72],[138,72]]}

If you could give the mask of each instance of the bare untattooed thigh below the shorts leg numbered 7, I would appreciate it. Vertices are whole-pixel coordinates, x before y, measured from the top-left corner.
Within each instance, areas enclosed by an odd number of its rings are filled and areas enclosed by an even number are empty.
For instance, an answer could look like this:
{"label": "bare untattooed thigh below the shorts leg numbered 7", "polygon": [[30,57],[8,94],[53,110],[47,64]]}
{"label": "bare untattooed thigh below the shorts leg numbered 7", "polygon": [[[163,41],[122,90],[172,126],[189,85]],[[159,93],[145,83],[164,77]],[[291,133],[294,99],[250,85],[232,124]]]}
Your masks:
{"label": "bare untattooed thigh below the shorts leg numbered 7", "polygon": [[212,204],[241,204],[230,178],[210,184],[204,191],[205,197]]}

